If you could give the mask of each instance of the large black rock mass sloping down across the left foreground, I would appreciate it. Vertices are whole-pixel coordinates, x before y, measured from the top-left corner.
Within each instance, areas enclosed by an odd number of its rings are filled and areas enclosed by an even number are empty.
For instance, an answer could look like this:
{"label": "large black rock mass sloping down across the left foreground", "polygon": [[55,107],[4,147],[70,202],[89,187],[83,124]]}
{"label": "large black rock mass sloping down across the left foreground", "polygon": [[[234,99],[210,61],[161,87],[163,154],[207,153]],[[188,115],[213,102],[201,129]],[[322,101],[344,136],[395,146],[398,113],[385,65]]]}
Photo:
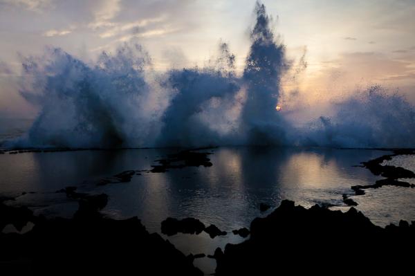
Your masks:
{"label": "large black rock mass sloping down across the left foreground", "polygon": [[[101,199],[82,199],[73,219],[39,217],[26,234],[0,234],[1,273],[203,275],[169,241],[149,234],[136,217],[118,221],[94,212]],[[19,212],[26,210],[7,210],[7,222],[19,221]]]}

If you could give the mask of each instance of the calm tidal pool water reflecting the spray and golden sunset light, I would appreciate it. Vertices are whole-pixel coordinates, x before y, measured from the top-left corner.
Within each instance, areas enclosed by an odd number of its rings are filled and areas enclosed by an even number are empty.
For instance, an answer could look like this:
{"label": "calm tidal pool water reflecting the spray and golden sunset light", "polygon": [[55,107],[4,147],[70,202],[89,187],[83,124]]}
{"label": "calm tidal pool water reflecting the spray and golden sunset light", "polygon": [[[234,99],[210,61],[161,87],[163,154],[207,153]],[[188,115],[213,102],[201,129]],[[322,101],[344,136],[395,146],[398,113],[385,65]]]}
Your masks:
{"label": "calm tidal pool water reflecting the spray and golden sunset light", "polygon": [[[60,213],[66,212],[68,216],[68,210],[75,210],[76,204],[62,203],[64,196],[59,198],[55,190],[68,185],[86,185],[85,180],[127,169],[148,169],[153,160],[176,151],[131,149],[3,154],[0,155],[0,194],[51,192],[28,194],[17,203],[26,201],[41,205],[40,201],[45,201],[52,206],[37,208],[37,212],[56,215],[60,209]],[[356,149],[223,147],[214,149],[214,154],[210,155],[212,167],[142,173],[134,176],[131,183],[103,187],[86,185],[80,189],[109,194],[105,214],[119,219],[138,216],[150,232],[159,232],[160,222],[167,217],[195,217],[206,225],[213,223],[230,234],[214,240],[205,234],[168,238],[186,254],[213,254],[218,246],[241,241],[232,230],[248,227],[252,219],[261,216],[258,208],[261,202],[276,206],[282,199],[292,199],[306,206],[315,203],[342,205],[342,194],[352,194],[352,185],[368,185],[379,179],[369,170],[353,165],[383,154],[385,151]],[[382,187],[353,199],[370,219],[385,225],[401,217],[415,220],[415,205],[411,203],[415,202],[415,194],[406,191]],[[385,204],[391,199],[393,203]],[[212,261],[198,262],[206,270],[214,269]]]}

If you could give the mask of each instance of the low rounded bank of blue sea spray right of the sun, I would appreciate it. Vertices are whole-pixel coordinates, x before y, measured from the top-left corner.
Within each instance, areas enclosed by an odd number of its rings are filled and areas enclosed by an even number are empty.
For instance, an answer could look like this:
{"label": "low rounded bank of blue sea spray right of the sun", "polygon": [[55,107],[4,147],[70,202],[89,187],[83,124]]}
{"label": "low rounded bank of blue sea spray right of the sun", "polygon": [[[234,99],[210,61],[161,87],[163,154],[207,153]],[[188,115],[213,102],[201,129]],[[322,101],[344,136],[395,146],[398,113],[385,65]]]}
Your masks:
{"label": "low rounded bank of blue sea spray right of the sun", "polygon": [[304,129],[299,145],[324,147],[415,147],[415,108],[381,86],[356,91]]}

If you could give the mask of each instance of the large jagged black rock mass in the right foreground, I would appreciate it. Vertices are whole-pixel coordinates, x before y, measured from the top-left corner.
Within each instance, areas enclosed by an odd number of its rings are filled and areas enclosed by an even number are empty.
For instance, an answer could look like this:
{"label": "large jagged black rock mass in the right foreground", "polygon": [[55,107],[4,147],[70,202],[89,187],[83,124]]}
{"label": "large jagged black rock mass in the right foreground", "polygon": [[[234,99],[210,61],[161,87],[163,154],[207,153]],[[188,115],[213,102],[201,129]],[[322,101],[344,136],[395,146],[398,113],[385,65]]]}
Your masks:
{"label": "large jagged black rock mass in the right foreground", "polygon": [[380,228],[354,208],[346,213],[318,205],[306,209],[293,201],[282,201],[268,217],[254,219],[250,232],[250,239],[215,254],[216,275],[321,274],[345,266],[403,272],[412,266],[407,249],[415,246],[415,223]]}

